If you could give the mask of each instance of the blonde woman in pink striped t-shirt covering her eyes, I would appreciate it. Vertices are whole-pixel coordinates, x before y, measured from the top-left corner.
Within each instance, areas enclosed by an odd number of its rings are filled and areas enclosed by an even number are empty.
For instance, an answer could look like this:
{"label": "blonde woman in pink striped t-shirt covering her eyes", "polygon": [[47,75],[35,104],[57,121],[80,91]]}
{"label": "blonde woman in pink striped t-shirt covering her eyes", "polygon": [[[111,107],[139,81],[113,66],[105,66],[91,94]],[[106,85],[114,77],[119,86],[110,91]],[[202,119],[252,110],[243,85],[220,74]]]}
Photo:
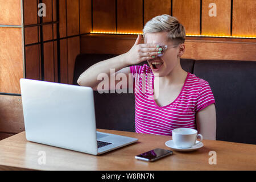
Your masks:
{"label": "blonde woman in pink striped t-shirt covering her eyes", "polygon": [[[97,76],[110,76],[110,69],[115,70],[111,74],[124,73],[127,83],[132,74],[137,133],[171,135],[172,130],[187,127],[204,139],[216,139],[215,101],[209,83],[180,66],[185,51],[182,24],[170,15],[156,16],[144,26],[143,36],[144,44],[138,35],[130,51],[88,68],[79,77],[79,85],[97,90]],[[145,60],[150,67],[136,65]]]}

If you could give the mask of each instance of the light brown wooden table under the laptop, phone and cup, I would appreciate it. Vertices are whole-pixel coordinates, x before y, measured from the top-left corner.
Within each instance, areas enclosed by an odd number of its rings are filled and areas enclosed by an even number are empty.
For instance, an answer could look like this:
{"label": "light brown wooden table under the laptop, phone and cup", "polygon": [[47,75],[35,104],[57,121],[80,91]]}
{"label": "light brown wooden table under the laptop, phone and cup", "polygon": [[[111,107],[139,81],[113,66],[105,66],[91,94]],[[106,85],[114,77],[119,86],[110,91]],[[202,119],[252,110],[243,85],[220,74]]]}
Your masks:
{"label": "light brown wooden table under the laptop, phone and cup", "polygon": [[[218,140],[203,140],[204,147],[192,152],[177,152],[148,163],[136,160],[135,155],[154,148],[166,148],[171,137],[138,134],[125,131],[101,132],[138,138],[137,143],[94,156],[44,144],[28,142],[25,132],[0,141],[0,169],[7,170],[256,170],[256,145]],[[39,164],[46,154],[46,164]],[[210,151],[216,151],[217,164],[209,164]]]}

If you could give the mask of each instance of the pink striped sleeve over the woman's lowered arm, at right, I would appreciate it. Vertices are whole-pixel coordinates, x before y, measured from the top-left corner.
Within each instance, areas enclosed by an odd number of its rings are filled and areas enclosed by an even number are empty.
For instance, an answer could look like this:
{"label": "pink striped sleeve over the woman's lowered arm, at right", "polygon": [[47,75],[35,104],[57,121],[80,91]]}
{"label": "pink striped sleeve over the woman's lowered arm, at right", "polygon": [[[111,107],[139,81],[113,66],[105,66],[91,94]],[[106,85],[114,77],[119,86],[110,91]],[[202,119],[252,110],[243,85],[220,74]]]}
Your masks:
{"label": "pink striped sleeve over the woman's lowered arm, at right", "polygon": [[212,93],[212,89],[210,89],[210,85],[204,84],[201,88],[196,104],[195,104],[195,112],[199,112],[200,110],[204,109],[205,107],[209,106],[210,104],[215,104],[214,96]]}

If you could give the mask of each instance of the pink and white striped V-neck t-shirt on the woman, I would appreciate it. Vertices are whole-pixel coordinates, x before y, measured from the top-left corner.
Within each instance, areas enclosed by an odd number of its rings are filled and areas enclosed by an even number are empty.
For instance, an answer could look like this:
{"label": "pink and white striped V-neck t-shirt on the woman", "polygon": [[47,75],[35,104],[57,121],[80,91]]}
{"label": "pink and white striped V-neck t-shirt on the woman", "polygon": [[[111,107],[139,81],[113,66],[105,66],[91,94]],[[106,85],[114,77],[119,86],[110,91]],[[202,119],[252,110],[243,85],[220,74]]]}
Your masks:
{"label": "pink and white striped V-neck t-shirt on the woman", "polygon": [[154,100],[154,73],[148,65],[133,65],[130,72],[134,79],[135,131],[156,135],[172,135],[180,127],[196,129],[196,113],[215,104],[209,83],[189,73],[179,96],[160,107]]}

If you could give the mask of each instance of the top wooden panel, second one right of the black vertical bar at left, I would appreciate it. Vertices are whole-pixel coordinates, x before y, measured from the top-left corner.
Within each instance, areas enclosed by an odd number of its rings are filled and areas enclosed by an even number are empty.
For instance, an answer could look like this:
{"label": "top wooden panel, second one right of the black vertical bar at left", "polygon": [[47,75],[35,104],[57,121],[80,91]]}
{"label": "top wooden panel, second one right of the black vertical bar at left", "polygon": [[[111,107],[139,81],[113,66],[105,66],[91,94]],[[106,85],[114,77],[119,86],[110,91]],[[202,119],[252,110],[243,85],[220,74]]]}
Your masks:
{"label": "top wooden panel, second one right of the black vertical bar at left", "polygon": [[79,0],[67,0],[67,34],[79,34]]}

